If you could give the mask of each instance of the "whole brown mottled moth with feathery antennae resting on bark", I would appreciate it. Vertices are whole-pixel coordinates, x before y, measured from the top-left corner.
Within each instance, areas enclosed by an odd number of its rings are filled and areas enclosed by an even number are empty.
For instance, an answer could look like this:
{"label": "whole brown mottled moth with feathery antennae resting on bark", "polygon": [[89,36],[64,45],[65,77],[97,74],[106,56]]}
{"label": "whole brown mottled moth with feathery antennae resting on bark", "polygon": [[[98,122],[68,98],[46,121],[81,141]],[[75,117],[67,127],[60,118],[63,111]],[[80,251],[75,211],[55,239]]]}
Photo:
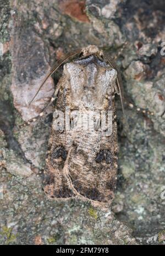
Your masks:
{"label": "whole brown mottled moth with feathery antennae resting on bark", "polygon": [[123,109],[122,81],[115,62],[95,45],[72,51],[48,71],[38,91],[64,61],[75,56],[64,65],[54,93],[56,109],[44,191],[57,200],[78,198],[94,206],[107,206],[117,183],[115,93],[120,95]]}

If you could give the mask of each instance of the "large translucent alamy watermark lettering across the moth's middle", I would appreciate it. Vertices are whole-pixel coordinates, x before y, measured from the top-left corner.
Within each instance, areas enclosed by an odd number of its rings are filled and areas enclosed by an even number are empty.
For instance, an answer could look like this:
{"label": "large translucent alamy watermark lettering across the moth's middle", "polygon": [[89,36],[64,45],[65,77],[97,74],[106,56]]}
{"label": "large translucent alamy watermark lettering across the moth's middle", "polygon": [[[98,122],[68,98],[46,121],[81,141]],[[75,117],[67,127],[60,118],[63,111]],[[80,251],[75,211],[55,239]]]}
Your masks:
{"label": "large translucent alamy watermark lettering across the moth's middle", "polygon": [[71,111],[65,107],[65,112],[56,110],[53,113],[54,130],[86,130],[99,131],[102,136],[112,134],[112,111],[91,111],[79,109]]}

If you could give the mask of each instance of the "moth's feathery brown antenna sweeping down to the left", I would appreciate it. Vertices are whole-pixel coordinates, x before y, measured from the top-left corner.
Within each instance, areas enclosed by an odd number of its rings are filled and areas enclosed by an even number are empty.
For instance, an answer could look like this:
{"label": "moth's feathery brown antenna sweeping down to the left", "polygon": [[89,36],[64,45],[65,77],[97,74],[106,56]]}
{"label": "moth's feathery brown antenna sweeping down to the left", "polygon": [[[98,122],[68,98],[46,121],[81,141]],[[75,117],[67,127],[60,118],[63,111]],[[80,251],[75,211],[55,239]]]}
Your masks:
{"label": "moth's feathery brown antenna sweeping down to the left", "polygon": [[42,86],[44,83],[47,81],[47,79],[58,69],[59,66],[63,64],[64,61],[68,60],[69,58],[72,58],[76,54],[81,53],[82,49],[76,49],[74,51],[70,51],[70,53],[62,55],[61,59],[59,59],[52,67],[51,69],[47,72],[46,76],[44,77],[40,87],[38,88],[35,96],[32,98],[32,100],[29,102],[29,106],[31,102],[34,100],[34,98],[37,96],[38,92],[41,90]]}

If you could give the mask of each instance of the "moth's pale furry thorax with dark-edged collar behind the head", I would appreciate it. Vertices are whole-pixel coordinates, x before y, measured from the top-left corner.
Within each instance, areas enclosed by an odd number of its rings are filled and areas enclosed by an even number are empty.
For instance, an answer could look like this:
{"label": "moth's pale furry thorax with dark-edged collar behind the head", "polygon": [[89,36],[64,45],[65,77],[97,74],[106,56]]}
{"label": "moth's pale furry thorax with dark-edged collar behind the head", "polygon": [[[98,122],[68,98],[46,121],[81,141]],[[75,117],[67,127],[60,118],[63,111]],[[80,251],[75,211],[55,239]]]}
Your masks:
{"label": "moth's pale furry thorax with dark-edged collar behind the head", "polygon": [[117,71],[97,56],[90,55],[64,65],[64,74],[68,77],[70,87],[70,102],[74,107],[103,109],[107,93],[112,92]]}

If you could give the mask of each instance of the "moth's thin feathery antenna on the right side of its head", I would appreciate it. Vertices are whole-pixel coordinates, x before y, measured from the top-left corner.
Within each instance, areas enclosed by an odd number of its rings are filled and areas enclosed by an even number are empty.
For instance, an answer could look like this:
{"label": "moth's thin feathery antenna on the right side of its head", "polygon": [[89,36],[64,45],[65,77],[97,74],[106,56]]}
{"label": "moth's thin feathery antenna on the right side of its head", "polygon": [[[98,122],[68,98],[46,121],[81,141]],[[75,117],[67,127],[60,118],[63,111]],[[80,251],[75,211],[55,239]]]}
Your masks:
{"label": "moth's thin feathery antenna on the right side of its head", "polygon": [[122,77],[120,75],[120,71],[116,65],[116,62],[114,61],[114,59],[112,59],[109,55],[107,54],[104,54],[105,56],[105,59],[108,61],[108,63],[111,65],[111,67],[113,69],[116,69],[117,70],[117,78],[116,78],[116,81],[117,81],[117,86],[118,86],[118,90],[119,90],[119,93],[120,93],[120,101],[121,101],[121,104],[122,104],[122,111],[124,113],[124,96],[123,96],[123,82],[122,82]]}

